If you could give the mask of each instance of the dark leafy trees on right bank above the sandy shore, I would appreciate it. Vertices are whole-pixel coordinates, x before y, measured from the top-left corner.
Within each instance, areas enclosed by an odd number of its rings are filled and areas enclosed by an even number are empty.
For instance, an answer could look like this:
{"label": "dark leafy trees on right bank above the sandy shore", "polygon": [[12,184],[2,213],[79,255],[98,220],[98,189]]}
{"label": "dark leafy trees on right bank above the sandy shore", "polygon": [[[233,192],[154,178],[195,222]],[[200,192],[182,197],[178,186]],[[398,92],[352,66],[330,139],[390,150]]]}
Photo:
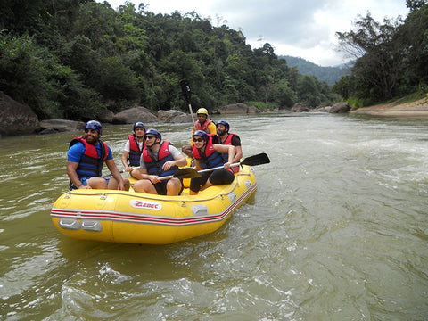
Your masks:
{"label": "dark leafy trees on right bank above the sandy shore", "polygon": [[355,29],[337,32],[342,51],[355,59],[350,76],[333,91],[358,107],[428,92],[428,4],[407,0],[406,19],[359,16]]}

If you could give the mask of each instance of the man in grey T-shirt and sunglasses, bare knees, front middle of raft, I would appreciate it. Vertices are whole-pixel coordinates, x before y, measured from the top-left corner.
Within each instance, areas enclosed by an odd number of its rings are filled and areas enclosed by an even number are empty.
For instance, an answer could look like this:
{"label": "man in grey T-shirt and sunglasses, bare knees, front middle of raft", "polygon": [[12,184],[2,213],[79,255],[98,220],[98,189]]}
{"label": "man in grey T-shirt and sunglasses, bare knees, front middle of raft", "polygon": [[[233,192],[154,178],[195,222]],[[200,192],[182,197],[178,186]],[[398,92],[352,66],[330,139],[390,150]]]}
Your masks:
{"label": "man in grey T-shirt and sunglasses, bare knees, front middle of raft", "polygon": [[139,179],[134,184],[138,193],[177,196],[183,191],[183,180],[172,177],[162,180],[161,177],[174,175],[178,166],[187,165],[185,156],[171,143],[164,141],[156,129],[147,129],[144,133],[144,149],[141,154],[140,168],[134,170]]}

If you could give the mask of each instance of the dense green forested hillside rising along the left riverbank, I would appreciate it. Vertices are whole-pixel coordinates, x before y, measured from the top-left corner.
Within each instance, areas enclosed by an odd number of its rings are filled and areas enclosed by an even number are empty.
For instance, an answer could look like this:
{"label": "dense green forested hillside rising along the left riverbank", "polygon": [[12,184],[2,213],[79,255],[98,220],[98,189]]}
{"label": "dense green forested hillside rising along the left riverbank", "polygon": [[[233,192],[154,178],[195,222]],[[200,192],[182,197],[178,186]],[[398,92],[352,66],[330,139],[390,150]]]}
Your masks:
{"label": "dense green forested hillside rising along the left riverbank", "polygon": [[262,108],[330,104],[315,77],[278,59],[271,45],[251,49],[241,31],[214,27],[196,12],[154,14],[125,3],[4,0],[0,12],[0,90],[39,119],[96,119],[136,104],[152,111],[228,103]]}

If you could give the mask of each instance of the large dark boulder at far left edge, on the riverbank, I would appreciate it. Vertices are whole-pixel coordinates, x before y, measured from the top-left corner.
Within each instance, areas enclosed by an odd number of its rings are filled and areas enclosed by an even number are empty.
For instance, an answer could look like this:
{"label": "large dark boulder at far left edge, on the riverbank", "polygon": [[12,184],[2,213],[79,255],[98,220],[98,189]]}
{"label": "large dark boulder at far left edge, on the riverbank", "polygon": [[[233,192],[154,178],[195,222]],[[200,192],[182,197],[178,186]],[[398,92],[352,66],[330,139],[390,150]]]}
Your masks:
{"label": "large dark boulder at far left edge, on the riverbank", "polygon": [[40,129],[37,115],[0,91],[0,136],[32,134]]}

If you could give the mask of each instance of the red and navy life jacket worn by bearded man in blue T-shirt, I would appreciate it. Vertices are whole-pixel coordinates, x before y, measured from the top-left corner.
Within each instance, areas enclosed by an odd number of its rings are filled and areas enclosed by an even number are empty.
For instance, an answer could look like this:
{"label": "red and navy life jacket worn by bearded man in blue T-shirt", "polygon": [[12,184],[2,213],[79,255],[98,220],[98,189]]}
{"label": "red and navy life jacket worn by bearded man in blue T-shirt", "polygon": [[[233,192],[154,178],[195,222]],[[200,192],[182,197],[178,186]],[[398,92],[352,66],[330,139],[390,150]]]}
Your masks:
{"label": "red and navy life jacket worn by bearded man in blue T-shirt", "polygon": [[103,163],[109,156],[109,147],[104,142],[99,141],[101,155],[98,155],[95,145],[87,143],[85,136],[78,136],[71,140],[69,149],[78,142],[85,145],[85,153],[78,161],[78,168],[76,169],[78,177],[101,177]]}

